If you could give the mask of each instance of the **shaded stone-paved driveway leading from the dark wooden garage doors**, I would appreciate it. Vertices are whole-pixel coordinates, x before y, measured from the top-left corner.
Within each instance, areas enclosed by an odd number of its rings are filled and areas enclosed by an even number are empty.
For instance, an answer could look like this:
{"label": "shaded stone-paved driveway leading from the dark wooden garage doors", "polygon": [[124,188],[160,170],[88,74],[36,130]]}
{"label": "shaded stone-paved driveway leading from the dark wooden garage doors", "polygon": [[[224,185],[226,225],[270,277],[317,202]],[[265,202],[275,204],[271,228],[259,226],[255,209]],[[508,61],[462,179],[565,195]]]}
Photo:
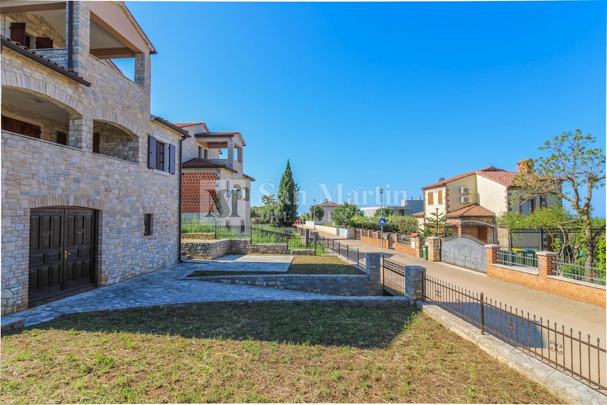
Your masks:
{"label": "shaded stone-paved driveway leading from the dark wooden garage doors", "polygon": [[[273,259],[274,257],[274,259]],[[262,259],[263,258],[263,259]],[[226,260],[227,259],[227,260]],[[259,260],[284,266],[292,256],[246,256],[253,260],[250,265],[259,266]],[[246,265],[242,256],[225,256],[223,264]],[[207,261],[207,260],[201,260]],[[220,260],[221,262],[221,260]],[[279,290],[267,287],[251,287],[214,282],[183,279],[195,270],[208,264],[177,264],[143,276],[135,277],[118,284],[96,288],[86,293],[74,295],[49,304],[39,305],[12,315],[2,316],[2,325],[24,321],[25,326],[50,321],[67,313],[84,311],[113,310],[151,305],[188,304],[193,302],[229,302],[229,301],[309,301],[309,300],[389,300],[391,297],[342,297],[325,294],[306,293],[304,291]],[[213,270],[223,270],[214,266]],[[288,268],[288,264],[287,264]],[[393,299],[393,298],[392,298]]]}

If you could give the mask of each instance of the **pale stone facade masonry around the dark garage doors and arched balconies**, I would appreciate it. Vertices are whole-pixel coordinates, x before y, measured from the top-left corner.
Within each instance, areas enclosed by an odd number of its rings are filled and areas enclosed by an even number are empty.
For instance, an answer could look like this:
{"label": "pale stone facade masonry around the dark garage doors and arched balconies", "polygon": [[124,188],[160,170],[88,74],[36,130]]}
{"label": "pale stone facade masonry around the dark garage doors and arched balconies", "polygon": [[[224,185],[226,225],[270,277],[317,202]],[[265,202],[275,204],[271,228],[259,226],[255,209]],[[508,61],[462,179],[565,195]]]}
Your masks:
{"label": "pale stone facade masonry around the dark garage doors and arched balconies", "polygon": [[[74,22],[74,69],[90,87],[12,50],[0,55],[3,89],[33,94],[70,116],[69,147],[2,132],[2,315],[28,307],[32,208],[98,210],[97,286],[178,260],[178,174],[149,169],[147,159],[135,164],[92,153],[93,120],[137,135],[141,157],[148,155],[148,135],[178,148],[181,134],[150,118],[150,57],[140,56],[143,79],[134,83],[90,55],[90,10],[84,2],[74,3]],[[149,236],[143,236],[143,214],[153,214]]]}

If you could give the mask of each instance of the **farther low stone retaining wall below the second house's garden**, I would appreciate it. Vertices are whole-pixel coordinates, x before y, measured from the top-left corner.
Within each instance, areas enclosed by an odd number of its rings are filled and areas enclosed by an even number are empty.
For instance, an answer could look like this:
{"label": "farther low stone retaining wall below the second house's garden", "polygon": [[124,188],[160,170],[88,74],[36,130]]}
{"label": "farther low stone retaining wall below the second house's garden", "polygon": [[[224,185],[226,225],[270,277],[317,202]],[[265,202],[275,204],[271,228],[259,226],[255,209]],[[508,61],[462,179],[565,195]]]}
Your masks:
{"label": "farther low stone retaining wall below the second house's garden", "polygon": [[181,242],[181,253],[192,259],[212,260],[226,254],[300,254],[314,256],[313,249],[288,249],[287,243],[251,243],[249,239],[222,239]]}

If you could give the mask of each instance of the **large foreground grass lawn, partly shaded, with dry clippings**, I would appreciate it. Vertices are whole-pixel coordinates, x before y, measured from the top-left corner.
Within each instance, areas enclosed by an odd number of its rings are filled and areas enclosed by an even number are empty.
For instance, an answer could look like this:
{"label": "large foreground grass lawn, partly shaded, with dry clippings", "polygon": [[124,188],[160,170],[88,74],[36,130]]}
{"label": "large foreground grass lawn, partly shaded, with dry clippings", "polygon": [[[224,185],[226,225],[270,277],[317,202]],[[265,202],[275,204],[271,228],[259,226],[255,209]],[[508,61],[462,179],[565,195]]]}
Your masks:
{"label": "large foreground grass lawn, partly shaded, with dry clippings", "polygon": [[560,403],[397,304],[64,315],[2,338],[2,403]]}

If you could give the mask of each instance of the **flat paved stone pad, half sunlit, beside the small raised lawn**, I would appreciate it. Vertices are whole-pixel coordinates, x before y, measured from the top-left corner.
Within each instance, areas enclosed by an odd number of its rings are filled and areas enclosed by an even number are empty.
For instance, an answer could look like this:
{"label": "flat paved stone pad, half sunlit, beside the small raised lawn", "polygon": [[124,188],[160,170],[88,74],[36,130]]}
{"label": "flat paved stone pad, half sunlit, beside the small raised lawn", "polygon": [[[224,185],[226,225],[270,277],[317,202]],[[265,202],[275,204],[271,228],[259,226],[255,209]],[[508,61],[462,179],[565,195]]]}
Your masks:
{"label": "flat paved stone pad, half sunlit, beside the small raised lawn", "polygon": [[289,270],[291,261],[293,261],[293,256],[285,254],[229,254],[214,260],[185,260],[185,263],[192,265],[192,271],[250,271],[251,273],[259,271],[276,271],[277,273],[285,273]]}

